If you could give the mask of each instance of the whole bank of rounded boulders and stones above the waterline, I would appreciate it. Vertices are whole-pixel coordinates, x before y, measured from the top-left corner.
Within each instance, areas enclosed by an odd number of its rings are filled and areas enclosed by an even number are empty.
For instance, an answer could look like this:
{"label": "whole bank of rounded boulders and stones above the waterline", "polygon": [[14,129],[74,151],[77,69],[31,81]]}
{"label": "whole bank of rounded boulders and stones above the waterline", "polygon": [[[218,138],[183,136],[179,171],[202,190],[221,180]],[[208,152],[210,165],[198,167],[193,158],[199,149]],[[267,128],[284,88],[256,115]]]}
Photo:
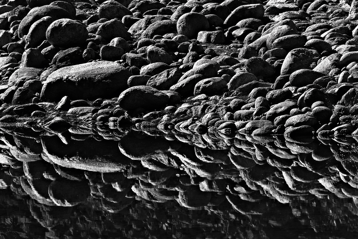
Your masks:
{"label": "whole bank of rounded boulders and stones above the waterline", "polygon": [[355,1],[2,4],[0,123],[358,134]]}

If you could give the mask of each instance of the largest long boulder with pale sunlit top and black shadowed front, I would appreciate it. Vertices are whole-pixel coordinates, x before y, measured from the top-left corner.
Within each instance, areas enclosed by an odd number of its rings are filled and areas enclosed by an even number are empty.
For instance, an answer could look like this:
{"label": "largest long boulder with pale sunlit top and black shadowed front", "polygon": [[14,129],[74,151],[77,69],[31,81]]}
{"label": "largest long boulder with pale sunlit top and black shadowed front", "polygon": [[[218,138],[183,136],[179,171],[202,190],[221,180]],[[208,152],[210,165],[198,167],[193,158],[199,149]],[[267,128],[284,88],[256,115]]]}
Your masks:
{"label": "largest long boulder with pale sunlit top and black shadowed front", "polygon": [[110,98],[127,89],[131,73],[115,62],[89,62],[63,67],[51,73],[41,91],[41,99]]}

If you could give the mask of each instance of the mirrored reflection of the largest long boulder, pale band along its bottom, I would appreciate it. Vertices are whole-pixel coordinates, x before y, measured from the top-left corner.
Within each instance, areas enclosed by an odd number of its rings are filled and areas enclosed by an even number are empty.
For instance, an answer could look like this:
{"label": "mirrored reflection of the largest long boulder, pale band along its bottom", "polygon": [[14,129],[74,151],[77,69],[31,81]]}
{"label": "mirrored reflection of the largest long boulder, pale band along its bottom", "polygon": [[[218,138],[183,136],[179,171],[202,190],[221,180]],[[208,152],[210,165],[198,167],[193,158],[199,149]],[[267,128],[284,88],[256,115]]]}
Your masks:
{"label": "mirrored reflection of the largest long boulder, pale band along its bottom", "polygon": [[121,171],[130,159],[118,150],[117,142],[97,141],[93,138],[62,143],[57,136],[41,138],[45,160],[63,167],[98,172]]}

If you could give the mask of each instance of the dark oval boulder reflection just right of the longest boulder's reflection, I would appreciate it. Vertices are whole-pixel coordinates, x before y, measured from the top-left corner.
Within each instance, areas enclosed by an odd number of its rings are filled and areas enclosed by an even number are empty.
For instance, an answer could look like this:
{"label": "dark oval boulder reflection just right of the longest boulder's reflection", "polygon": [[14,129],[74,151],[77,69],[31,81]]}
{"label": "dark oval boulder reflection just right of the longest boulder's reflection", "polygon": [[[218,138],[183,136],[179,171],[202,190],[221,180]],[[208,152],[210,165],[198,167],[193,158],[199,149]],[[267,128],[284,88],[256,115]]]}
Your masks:
{"label": "dark oval boulder reflection just right of the longest boulder's reflection", "polygon": [[128,133],[118,143],[120,151],[134,160],[150,159],[159,152],[169,150],[169,143],[164,138],[135,135]]}

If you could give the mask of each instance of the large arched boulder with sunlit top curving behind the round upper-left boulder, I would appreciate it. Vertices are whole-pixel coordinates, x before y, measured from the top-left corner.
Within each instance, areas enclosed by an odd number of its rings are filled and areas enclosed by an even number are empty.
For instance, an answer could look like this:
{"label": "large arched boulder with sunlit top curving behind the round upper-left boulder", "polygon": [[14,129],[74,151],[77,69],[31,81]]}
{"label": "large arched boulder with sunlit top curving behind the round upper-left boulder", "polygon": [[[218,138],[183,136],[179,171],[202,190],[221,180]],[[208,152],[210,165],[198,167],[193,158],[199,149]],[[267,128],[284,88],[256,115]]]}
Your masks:
{"label": "large arched boulder with sunlit top curving behind the round upper-left boulder", "polygon": [[65,18],[65,19],[73,18],[73,16],[71,16],[71,14],[68,13],[68,11],[66,11],[63,8],[60,8],[58,6],[45,5],[45,6],[40,6],[38,8],[33,8],[29,11],[29,13],[20,22],[19,29],[18,29],[19,38],[23,38],[25,35],[27,35],[29,33],[30,27],[37,20],[39,20],[45,16],[49,16],[53,20],[58,20],[58,19],[62,19],[62,18]]}

